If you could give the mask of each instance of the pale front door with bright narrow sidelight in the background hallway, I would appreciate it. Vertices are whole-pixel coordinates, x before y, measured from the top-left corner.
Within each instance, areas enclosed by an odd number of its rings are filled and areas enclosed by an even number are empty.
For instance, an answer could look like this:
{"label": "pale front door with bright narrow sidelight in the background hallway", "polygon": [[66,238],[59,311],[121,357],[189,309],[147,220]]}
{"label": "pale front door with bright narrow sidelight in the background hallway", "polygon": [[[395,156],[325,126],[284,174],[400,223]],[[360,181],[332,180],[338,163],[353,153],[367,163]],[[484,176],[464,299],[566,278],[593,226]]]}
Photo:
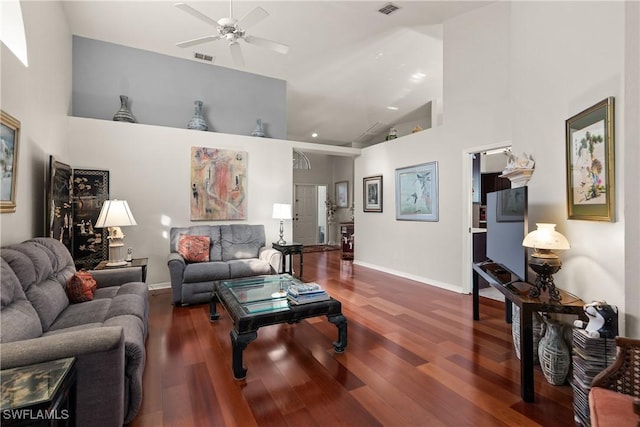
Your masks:
{"label": "pale front door with bright narrow sidelight in the background hallway", "polygon": [[326,185],[294,184],[293,240],[295,242],[303,245],[326,243],[326,200]]}

